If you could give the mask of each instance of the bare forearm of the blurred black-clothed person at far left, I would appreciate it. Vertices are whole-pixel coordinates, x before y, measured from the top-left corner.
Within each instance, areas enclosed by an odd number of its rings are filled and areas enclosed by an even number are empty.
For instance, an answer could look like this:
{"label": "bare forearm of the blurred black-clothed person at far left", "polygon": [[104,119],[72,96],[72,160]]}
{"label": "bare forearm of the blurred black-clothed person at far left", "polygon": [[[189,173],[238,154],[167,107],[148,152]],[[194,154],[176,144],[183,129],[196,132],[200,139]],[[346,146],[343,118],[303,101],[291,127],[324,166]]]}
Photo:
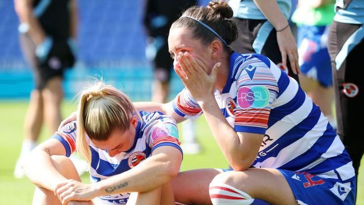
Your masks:
{"label": "bare forearm of the blurred black-clothed person at far left", "polygon": [[22,24],[27,24],[30,38],[36,45],[43,42],[46,34],[39,24],[39,21],[35,18],[30,6],[30,2],[27,0],[15,0],[15,10],[18,14],[19,21]]}

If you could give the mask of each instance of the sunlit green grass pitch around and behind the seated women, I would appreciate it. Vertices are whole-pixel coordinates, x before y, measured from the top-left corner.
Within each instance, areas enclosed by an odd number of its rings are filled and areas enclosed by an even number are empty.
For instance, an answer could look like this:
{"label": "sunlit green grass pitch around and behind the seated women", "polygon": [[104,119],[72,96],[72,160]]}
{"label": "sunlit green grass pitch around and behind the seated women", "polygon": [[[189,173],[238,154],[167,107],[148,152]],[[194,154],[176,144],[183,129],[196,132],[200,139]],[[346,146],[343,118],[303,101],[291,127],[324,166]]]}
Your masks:
{"label": "sunlit green grass pitch around and behind the seated women", "polygon": [[[0,102],[0,205],[31,205],[34,185],[28,179],[14,179],[13,169],[18,158],[23,139],[23,121],[26,113],[25,101]],[[63,116],[76,109],[75,103],[63,103]],[[203,146],[203,152],[197,155],[185,154],[182,170],[196,168],[227,168],[228,163],[217,147],[208,125],[203,117],[197,120],[197,138]],[[50,136],[45,128],[41,133],[41,141]],[[183,141],[183,139],[182,139]],[[364,165],[364,160],[362,160]],[[82,180],[89,182],[88,174]],[[364,205],[364,166],[361,167],[357,205]]]}

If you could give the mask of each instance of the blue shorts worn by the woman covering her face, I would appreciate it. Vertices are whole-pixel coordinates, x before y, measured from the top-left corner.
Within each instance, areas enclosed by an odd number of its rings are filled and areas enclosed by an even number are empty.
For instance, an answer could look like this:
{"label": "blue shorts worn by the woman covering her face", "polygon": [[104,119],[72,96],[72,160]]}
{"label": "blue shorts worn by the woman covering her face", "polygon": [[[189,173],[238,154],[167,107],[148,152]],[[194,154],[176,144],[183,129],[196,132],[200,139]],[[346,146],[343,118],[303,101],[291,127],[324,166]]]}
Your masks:
{"label": "blue shorts worn by the woman covering her face", "polygon": [[278,169],[300,205],[354,205],[356,181],[325,179],[305,172]]}

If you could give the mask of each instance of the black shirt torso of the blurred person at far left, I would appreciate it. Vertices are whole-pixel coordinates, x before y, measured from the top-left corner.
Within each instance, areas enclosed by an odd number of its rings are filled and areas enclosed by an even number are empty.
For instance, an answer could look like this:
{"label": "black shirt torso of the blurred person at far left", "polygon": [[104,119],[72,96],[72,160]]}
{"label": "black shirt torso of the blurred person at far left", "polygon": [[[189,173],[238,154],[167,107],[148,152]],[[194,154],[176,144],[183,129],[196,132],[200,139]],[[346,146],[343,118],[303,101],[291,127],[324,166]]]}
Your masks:
{"label": "black shirt torso of the blurred person at far left", "polygon": [[70,36],[70,0],[34,0],[33,13],[48,36],[68,39]]}

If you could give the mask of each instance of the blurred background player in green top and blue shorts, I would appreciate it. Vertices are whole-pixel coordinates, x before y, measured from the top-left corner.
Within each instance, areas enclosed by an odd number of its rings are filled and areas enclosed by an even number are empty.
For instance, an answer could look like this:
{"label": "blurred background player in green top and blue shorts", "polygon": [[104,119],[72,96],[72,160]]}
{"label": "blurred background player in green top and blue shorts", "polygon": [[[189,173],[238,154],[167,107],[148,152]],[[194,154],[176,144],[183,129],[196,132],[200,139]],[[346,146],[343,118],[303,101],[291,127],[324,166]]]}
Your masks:
{"label": "blurred background player in green top and blue shorts", "polygon": [[333,22],[335,0],[300,0],[292,21],[298,26],[300,83],[330,124],[336,128],[332,114],[334,103],[331,62],[327,50],[329,27]]}

